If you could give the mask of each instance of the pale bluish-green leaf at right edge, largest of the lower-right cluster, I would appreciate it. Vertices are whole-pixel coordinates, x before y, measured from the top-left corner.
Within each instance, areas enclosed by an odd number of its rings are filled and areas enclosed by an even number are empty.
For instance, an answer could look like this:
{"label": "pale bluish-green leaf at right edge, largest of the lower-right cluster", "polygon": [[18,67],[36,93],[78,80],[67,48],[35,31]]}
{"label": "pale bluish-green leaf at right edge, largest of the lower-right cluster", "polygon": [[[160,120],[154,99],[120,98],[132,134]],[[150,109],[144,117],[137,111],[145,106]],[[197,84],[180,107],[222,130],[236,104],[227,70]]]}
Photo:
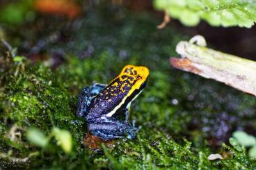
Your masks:
{"label": "pale bluish-green leaf at right edge, largest of the lower-right cluster", "polygon": [[253,146],[256,145],[256,139],[252,135],[248,135],[247,133],[237,130],[233,133],[233,137],[237,139],[237,142],[243,146]]}

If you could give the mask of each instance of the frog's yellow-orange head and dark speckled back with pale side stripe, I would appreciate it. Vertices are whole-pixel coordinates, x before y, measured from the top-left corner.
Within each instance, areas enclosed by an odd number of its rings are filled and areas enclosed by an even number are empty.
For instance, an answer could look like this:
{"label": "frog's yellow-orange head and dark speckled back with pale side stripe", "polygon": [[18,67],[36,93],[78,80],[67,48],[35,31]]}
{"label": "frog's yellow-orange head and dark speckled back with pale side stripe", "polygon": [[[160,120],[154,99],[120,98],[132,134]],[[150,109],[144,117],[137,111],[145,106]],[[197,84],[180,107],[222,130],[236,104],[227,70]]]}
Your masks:
{"label": "frog's yellow-orange head and dark speckled back with pale side stripe", "polygon": [[113,117],[124,110],[128,103],[145,87],[149,70],[146,67],[125,66],[111,83],[92,99],[86,119]]}

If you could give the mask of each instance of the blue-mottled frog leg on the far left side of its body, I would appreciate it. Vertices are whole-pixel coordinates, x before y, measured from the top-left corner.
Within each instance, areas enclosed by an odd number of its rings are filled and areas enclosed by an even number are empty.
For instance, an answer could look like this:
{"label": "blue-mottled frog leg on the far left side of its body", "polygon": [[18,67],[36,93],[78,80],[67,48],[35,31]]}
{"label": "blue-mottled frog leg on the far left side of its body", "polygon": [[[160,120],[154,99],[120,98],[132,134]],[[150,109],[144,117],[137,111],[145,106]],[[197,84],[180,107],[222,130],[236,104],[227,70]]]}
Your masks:
{"label": "blue-mottled frog leg on the far left side of its body", "polygon": [[77,115],[79,117],[86,116],[86,108],[90,104],[91,98],[90,88],[84,87],[78,99]]}

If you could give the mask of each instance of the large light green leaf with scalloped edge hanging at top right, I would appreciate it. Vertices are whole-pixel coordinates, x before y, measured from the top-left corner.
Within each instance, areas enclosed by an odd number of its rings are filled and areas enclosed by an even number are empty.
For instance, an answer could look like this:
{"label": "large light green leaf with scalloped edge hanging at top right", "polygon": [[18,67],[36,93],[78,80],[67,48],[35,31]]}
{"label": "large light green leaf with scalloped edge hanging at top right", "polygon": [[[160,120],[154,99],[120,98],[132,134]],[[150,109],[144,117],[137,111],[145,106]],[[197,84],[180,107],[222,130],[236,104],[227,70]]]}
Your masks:
{"label": "large light green leaf with scalloped edge hanging at top right", "polygon": [[196,26],[200,19],[211,26],[250,28],[256,22],[256,1],[243,0],[154,0],[154,7],[165,10],[185,26]]}

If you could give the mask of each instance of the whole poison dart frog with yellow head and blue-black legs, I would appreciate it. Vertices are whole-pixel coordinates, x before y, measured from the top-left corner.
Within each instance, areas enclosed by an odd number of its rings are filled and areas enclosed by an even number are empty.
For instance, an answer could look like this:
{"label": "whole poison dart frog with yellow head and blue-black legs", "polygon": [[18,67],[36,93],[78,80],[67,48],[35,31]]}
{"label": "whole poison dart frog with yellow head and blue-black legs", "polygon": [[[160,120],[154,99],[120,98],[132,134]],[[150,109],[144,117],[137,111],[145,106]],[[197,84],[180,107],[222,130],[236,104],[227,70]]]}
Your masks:
{"label": "whole poison dart frog with yellow head and blue-black legs", "polygon": [[[86,118],[89,132],[104,141],[134,138],[138,128],[129,124],[130,105],[143,91],[149,74],[147,67],[127,65],[109,85],[94,83],[84,87],[77,115]],[[121,121],[120,115],[125,119]]]}

